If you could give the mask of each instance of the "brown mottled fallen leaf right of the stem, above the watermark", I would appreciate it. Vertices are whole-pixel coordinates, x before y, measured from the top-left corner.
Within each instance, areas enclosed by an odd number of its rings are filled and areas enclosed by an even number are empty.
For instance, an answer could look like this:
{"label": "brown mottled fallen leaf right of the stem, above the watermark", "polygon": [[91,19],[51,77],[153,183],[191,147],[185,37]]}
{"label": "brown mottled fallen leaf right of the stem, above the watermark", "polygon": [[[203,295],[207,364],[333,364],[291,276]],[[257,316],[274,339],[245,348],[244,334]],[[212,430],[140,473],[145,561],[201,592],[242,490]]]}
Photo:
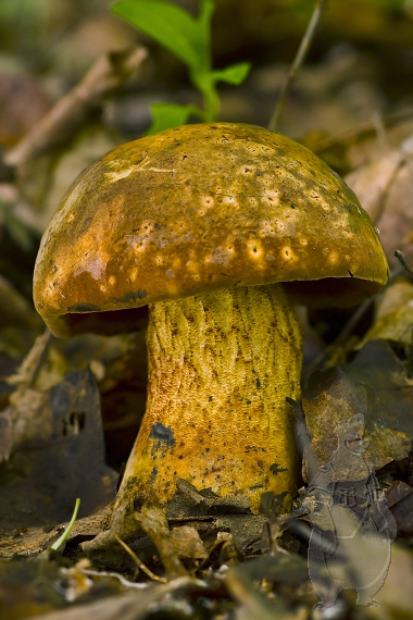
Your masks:
{"label": "brown mottled fallen leaf right of the stem, above the watermark", "polygon": [[[365,458],[375,469],[405,458],[413,441],[413,382],[384,340],[368,342],[354,360],[310,376],[302,405],[320,464],[337,447],[334,430],[356,413],[364,416]],[[304,470],[305,473],[305,470]]]}

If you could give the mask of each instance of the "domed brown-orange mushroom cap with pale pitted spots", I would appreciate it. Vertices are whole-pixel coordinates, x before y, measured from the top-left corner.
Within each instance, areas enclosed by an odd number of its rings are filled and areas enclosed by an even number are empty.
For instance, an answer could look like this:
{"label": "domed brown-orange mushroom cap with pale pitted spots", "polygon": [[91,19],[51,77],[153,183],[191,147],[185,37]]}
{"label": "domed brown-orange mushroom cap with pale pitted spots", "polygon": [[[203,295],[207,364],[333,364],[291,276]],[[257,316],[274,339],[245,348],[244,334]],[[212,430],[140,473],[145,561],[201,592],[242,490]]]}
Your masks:
{"label": "domed brown-orange mushroom cap with pale pitted spots", "polygon": [[283,282],[296,303],[351,306],[387,276],[367,214],[314,153],[205,123],[122,145],[77,177],[41,239],[34,299],[67,336],[126,331],[141,306],[231,286]]}

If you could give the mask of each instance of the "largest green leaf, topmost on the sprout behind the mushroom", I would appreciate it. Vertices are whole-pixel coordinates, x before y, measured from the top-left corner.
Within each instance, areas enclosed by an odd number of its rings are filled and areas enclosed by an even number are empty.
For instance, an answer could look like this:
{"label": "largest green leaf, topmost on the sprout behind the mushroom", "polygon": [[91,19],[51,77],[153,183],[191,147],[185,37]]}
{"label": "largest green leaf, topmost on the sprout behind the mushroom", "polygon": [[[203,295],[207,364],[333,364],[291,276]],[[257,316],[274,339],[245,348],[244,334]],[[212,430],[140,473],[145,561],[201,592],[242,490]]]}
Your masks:
{"label": "largest green leaf, topmost on the sprout behind the mushroom", "polygon": [[193,18],[165,0],[121,0],[111,11],[154,38],[192,71],[205,71],[213,8],[213,2],[205,0],[199,18]]}

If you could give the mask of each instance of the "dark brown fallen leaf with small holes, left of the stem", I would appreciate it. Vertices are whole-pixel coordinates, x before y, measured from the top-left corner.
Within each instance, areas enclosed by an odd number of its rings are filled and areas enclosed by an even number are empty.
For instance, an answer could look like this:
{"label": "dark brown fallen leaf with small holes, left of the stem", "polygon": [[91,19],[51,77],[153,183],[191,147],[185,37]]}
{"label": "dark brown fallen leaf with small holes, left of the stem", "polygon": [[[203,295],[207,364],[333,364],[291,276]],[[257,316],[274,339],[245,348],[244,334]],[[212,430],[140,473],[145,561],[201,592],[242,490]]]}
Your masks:
{"label": "dark brown fallen leaf with small holes, left of the stem", "polygon": [[67,372],[49,390],[24,387],[3,412],[12,420],[12,447],[0,464],[3,531],[46,525],[83,514],[114,497],[117,479],[104,463],[100,399],[89,369]]}

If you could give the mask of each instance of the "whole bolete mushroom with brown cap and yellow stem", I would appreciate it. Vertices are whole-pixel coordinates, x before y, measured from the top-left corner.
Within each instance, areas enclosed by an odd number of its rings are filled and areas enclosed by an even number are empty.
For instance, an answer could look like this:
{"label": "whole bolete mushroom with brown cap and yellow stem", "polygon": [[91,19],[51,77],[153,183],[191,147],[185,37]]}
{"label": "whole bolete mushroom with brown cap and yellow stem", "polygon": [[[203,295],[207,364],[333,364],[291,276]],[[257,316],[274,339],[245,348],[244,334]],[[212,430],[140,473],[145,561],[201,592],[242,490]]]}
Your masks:
{"label": "whole bolete mushroom with brown cap and yellow stem", "polygon": [[292,492],[292,306],[351,306],[387,274],[354,194],[261,127],[177,127],[89,166],[43,235],[34,298],[57,336],[130,330],[149,307],[147,410],[118,509],[167,504],[178,479],[253,512],[264,491]]}

